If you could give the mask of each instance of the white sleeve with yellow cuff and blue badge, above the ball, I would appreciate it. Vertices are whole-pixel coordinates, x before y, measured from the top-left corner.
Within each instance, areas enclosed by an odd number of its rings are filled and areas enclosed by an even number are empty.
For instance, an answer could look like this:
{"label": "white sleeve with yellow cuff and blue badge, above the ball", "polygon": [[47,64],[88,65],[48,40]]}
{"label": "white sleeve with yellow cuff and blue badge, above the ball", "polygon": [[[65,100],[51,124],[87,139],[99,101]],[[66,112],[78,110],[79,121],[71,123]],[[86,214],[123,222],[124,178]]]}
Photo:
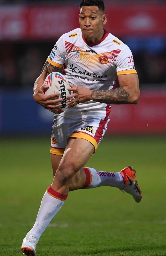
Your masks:
{"label": "white sleeve with yellow cuff and blue badge, above the ball", "polygon": [[63,36],[58,39],[56,44],[54,45],[50,56],[47,58],[47,61],[50,62],[53,66],[61,68],[63,66],[65,60],[65,47]]}

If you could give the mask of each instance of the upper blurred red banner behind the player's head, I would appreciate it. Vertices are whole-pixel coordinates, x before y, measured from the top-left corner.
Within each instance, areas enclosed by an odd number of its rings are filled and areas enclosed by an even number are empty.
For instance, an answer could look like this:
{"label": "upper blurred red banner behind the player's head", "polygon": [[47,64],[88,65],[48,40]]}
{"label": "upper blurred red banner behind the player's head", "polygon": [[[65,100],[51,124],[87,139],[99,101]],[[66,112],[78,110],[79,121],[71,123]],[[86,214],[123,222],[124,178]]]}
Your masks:
{"label": "upper blurred red banner behind the player's head", "polygon": [[[106,4],[116,36],[166,35],[166,4]],[[55,40],[79,27],[78,5],[1,5],[0,40]]]}

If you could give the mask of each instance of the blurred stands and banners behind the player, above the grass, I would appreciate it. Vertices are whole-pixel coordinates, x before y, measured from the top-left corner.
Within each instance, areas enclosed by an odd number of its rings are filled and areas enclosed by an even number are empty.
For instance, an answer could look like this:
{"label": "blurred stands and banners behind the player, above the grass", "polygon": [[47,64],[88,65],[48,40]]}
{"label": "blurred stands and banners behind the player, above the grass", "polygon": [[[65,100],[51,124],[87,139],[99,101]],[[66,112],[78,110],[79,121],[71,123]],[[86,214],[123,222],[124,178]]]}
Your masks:
{"label": "blurred stands and banners behind the player, above the grass", "polygon": [[[0,0],[0,134],[51,131],[52,113],[33,102],[33,83],[56,40],[79,27],[78,5]],[[137,106],[112,106],[107,135],[122,126],[123,134],[164,134],[166,2],[105,1],[105,11],[105,28],[133,52],[141,92]]]}

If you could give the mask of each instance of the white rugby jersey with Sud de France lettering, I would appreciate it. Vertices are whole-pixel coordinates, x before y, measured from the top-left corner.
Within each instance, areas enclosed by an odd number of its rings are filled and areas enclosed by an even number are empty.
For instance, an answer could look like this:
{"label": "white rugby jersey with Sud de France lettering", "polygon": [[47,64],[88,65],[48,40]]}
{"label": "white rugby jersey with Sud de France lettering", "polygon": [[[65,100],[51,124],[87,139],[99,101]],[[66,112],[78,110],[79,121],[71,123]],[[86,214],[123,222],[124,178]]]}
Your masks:
{"label": "white rugby jersey with Sud de France lettering", "polygon": [[[131,50],[117,37],[104,30],[103,38],[89,43],[81,29],[74,29],[60,37],[47,61],[61,68],[69,83],[91,90],[111,90],[117,75],[137,73]],[[106,118],[110,104],[96,101],[80,103],[60,114],[66,118]]]}

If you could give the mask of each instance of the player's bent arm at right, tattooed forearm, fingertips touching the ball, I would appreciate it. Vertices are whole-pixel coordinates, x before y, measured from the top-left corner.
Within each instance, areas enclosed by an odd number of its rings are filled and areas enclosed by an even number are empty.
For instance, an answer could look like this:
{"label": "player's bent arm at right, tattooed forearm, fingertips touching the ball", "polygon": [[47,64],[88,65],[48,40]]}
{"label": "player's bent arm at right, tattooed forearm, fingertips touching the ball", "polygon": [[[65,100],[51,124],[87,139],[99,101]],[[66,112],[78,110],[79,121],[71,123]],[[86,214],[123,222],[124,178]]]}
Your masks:
{"label": "player's bent arm at right, tattooed forearm, fingertips touching the ball", "polygon": [[89,100],[107,104],[137,104],[139,101],[139,81],[137,74],[118,75],[119,88],[109,91],[89,90],[81,86],[71,86],[73,94],[67,98],[74,99],[66,105],[70,107]]}

